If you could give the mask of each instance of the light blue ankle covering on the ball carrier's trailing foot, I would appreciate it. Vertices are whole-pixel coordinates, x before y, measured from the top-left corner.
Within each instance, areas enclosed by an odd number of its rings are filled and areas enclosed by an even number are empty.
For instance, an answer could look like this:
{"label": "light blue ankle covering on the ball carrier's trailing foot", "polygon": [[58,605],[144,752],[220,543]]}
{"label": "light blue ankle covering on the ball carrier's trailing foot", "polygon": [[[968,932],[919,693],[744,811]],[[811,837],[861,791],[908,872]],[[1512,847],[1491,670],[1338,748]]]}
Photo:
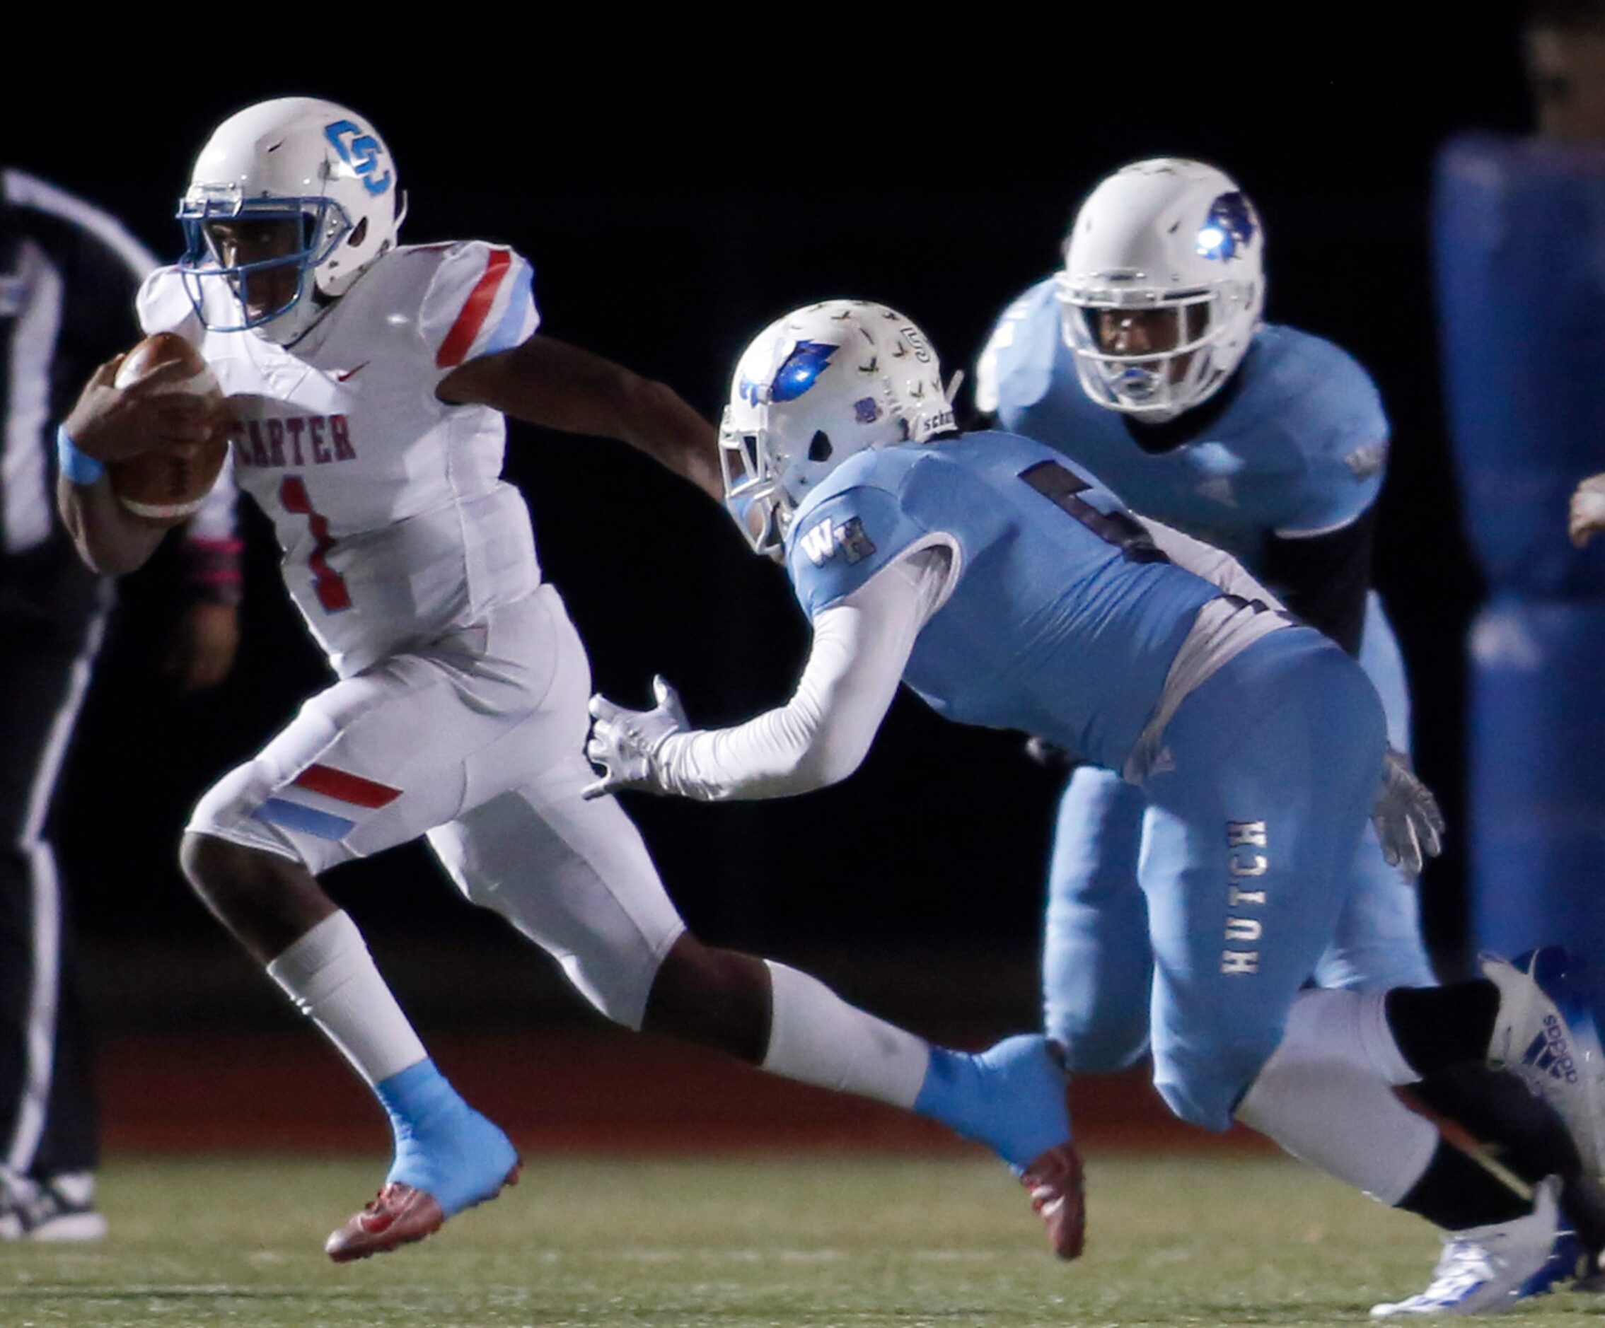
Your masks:
{"label": "light blue ankle covering on the ball carrier's trailing foot", "polygon": [[913,1110],[985,1144],[1016,1172],[1071,1137],[1064,1073],[1035,1034],[974,1055],[931,1047]]}

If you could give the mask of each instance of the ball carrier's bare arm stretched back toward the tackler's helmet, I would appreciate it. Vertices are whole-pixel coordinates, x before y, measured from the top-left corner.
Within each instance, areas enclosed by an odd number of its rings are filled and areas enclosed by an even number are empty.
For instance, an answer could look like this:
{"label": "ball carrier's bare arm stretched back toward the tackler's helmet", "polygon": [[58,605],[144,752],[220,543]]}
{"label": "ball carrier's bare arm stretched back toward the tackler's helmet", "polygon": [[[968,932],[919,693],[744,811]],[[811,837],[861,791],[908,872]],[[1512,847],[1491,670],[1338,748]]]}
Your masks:
{"label": "ball carrier's bare arm stretched back toward the tackler's helmet", "polygon": [[435,395],[565,433],[618,438],[724,500],[714,427],[664,383],[536,334],[453,369]]}

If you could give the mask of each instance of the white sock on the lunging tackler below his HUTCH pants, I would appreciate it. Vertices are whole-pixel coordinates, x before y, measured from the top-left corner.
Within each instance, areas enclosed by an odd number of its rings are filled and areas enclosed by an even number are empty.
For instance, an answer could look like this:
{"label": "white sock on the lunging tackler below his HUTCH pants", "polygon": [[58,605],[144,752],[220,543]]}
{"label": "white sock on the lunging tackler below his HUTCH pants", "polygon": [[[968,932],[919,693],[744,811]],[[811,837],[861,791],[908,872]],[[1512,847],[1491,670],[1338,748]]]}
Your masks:
{"label": "white sock on the lunging tackler below his HUTCH pants", "polygon": [[1438,1131],[1400,1102],[1379,1071],[1367,1036],[1374,1004],[1356,991],[1300,993],[1237,1119],[1392,1208],[1427,1172]]}

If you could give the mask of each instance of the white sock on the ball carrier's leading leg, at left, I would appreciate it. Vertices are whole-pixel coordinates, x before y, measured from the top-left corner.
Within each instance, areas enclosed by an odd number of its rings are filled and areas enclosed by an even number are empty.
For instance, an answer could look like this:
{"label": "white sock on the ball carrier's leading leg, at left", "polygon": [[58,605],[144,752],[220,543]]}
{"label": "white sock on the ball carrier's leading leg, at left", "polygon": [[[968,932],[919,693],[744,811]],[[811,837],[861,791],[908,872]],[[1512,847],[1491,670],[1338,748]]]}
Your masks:
{"label": "white sock on the ball carrier's leading leg, at left", "polygon": [[324,917],[268,964],[268,977],[369,1086],[429,1055],[343,909]]}

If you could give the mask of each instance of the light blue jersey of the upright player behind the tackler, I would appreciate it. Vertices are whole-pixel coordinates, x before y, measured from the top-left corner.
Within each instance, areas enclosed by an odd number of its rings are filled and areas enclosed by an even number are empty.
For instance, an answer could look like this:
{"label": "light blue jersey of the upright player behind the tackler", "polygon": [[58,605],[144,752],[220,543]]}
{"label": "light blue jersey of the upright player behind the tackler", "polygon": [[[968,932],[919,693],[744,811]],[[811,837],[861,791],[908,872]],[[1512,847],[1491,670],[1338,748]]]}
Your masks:
{"label": "light blue jersey of the upright player behind the tackler", "polygon": [[[1151,427],[1133,430],[1082,391],[1051,279],[1003,313],[977,377],[977,404],[1005,428],[1064,452],[1144,516],[1228,550],[1255,576],[1268,536],[1345,526],[1382,488],[1388,422],[1375,385],[1331,342],[1292,327],[1262,327],[1233,380],[1191,412],[1209,422],[1164,452],[1138,443]],[[1188,415],[1165,428],[1186,430]]]}

